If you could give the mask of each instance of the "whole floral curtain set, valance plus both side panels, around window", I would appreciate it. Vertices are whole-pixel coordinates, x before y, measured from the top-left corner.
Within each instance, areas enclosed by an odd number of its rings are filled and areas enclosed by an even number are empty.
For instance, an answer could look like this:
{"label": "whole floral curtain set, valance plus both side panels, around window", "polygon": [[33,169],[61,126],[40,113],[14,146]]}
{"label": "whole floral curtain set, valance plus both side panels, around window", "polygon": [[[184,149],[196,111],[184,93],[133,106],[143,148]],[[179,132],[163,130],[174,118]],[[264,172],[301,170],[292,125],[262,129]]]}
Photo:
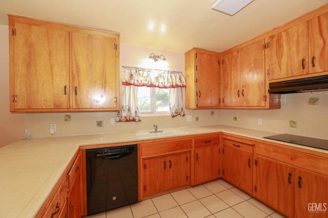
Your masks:
{"label": "whole floral curtain set, valance plus both side panels, around window", "polygon": [[182,72],[122,66],[122,93],[116,122],[141,121],[137,104],[137,87],[170,88],[170,113],[172,117],[185,116],[182,87],[186,87]]}

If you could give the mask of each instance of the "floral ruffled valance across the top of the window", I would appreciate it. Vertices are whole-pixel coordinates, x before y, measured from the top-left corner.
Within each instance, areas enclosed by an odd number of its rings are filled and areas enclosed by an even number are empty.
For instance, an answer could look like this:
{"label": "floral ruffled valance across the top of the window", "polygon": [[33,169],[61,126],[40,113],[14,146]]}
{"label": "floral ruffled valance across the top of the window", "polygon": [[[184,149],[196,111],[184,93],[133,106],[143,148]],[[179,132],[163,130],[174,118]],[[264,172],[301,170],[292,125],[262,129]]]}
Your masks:
{"label": "floral ruffled valance across the top of the window", "polygon": [[182,72],[124,66],[122,67],[122,85],[178,88],[186,87],[186,81]]}

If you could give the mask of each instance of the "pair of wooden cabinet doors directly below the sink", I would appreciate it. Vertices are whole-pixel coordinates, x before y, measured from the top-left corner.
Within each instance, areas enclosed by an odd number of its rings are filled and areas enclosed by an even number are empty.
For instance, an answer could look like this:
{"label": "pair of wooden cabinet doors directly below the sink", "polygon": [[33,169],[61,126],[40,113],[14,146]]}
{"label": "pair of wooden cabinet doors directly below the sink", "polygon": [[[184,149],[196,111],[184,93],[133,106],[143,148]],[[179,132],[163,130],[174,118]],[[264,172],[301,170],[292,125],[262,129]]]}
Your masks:
{"label": "pair of wooden cabinet doors directly below the sink", "polygon": [[144,159],[144,196],[189,185],[189,160],[190,152]]}

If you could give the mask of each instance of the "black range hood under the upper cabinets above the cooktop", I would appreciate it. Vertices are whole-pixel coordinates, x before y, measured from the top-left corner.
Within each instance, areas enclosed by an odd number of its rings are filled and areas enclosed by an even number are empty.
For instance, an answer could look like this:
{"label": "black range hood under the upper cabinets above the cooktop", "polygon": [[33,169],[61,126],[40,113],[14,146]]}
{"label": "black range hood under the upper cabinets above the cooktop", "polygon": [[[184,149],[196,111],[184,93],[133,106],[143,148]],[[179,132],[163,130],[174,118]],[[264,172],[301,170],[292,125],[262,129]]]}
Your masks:
{"label": "black range hood under the upper cabinets above the cooktop", "polygon": [[269,83],[269,93],[328,91],[328,75]]}

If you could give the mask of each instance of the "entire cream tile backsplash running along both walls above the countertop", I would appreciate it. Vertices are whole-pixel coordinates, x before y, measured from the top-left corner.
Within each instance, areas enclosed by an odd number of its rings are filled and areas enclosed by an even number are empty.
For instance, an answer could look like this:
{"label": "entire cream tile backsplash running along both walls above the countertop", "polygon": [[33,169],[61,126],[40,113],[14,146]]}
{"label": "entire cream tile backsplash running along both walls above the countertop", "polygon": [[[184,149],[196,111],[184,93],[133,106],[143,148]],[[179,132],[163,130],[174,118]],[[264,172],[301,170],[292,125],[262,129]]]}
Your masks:
{"label": "entire cream tile backsplash running along both walls above the countertop", "polygon": [[[154,124],[159,129],[223,124],[328,139],[328,91],[282,94],[281,109],[277,110],[186,110],[186,115],[192,115],[191,122],[187,122],[186,116],[167,115],[143,116],[142,122],[110,125],[110,118],[116,117],[116,112],[35,113],[25,114],[25,126],[33,138],[147,131]],[[262,125],[258,125],[258,118],[262,119]],[[54,135],[50,134],[50,123],[57,124]]]}

